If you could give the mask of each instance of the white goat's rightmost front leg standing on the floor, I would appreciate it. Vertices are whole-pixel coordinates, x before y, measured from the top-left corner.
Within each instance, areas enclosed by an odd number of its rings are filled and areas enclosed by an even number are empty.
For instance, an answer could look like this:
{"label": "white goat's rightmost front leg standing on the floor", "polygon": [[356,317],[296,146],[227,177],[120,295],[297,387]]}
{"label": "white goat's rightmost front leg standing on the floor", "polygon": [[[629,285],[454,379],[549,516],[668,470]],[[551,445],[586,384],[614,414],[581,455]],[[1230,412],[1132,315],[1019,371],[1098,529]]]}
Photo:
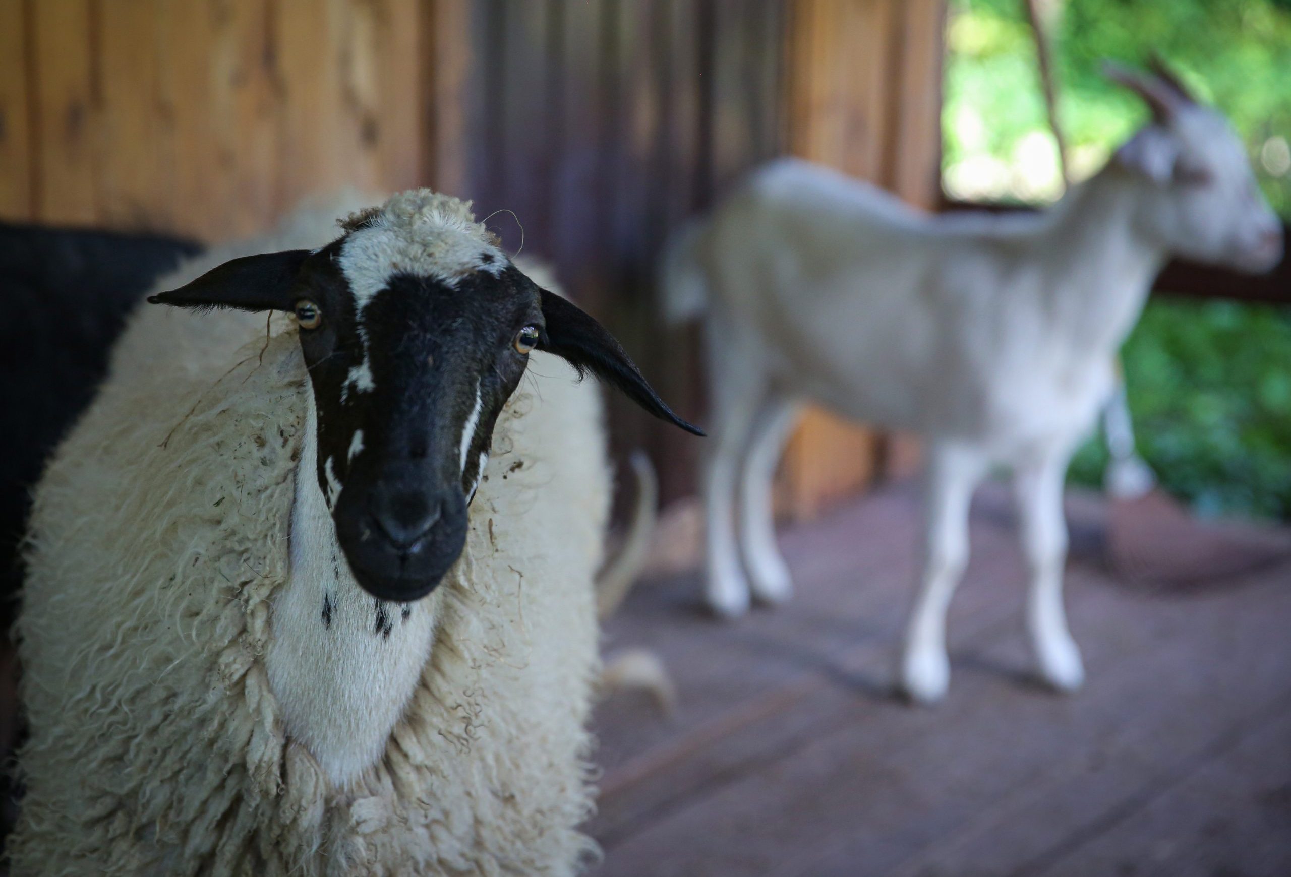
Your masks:
{"label": "white goat's rightmost front leg standing on the floor", "polygon": [[1073,691],[1084,681],[1081,650],[1068,631],[1062,610],[1066,562],[1062,480],[1068,459],[1064,448],[1044,448],[1017,466],[1013,475],[1022,555],[1030,576],[1026,629],[1041,677],[1060,691]]}

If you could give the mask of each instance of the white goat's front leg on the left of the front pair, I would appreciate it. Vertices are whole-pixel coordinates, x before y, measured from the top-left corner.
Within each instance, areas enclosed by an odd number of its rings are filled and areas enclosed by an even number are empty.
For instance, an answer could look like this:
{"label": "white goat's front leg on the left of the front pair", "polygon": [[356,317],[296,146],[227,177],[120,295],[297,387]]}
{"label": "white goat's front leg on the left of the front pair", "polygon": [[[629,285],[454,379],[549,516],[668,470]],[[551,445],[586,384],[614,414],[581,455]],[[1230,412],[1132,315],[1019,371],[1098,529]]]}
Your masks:
{"label": "white goat's front leg on the left of the front pair", "polygon": [[919,703],[940,700],[950,684],[946,609],[968,562],[968,503],[985,458],[958,445],[933,445],[927,469],[924,546],[899,685]]}

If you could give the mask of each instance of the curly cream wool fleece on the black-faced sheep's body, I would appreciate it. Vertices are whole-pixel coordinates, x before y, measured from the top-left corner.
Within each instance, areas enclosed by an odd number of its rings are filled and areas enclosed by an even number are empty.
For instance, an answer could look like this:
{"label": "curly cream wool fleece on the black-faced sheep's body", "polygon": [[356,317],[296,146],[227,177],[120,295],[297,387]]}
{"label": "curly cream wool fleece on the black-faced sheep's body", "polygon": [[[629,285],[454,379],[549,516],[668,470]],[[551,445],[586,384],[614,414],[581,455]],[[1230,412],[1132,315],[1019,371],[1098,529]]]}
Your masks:
{"label": "curly cream wool fleece on the black-faced sheep's body", "polygon": [[[343,212],[217,248],[160,288],[325,244]],[[417,691],[380,762],[332,788],[284,734],[263,662],[311,392],[294,330],[272,322],[266,343],[263,315],[142,307],[37,489],[13,873],[576,871],[609,497],[595,388],[534,357],[463,556],[426,597],[440,623]]]}

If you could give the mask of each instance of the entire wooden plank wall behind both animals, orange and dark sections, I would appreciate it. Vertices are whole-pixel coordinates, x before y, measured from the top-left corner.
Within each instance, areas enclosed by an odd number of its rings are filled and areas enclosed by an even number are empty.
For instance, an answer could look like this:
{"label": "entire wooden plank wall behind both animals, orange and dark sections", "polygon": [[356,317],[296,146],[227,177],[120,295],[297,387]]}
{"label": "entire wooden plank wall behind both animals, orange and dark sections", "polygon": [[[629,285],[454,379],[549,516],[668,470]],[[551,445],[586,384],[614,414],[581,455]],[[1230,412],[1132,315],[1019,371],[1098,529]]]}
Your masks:
{"label": "entire wooden plank wall behind both animals, orange and dark sections", "polygon": [[[695,326],[664,325],[666,236],[775,155],[936,192],[944,0],[0,0],[0,219],[262,228],[316,188],[431,183],[555,263],[684,415]],[[701,442],[611,401],[665,498]],[[809,515],[886,442],[812,413]]]}

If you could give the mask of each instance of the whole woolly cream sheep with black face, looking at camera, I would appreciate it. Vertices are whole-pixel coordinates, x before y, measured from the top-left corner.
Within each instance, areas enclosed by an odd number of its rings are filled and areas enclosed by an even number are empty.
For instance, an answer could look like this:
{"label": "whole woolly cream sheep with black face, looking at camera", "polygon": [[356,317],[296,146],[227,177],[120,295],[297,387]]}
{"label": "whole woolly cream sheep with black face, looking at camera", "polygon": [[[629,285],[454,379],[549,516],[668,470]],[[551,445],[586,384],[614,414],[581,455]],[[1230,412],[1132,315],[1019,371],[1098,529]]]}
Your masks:
{"label": "whole woolly cream sheep with black face, looking at camera", "polygon": [[[297,319],[145,306],[49,463],[15,876],[565,874],[594,851],[609,478],[599,395],[559,357],[666,406],[617,346],[585,361],[608,334],[467,205],[407,192],[328,244],[338,213],[164,281]],[[556,355],[525,371],[531,347]]]}

